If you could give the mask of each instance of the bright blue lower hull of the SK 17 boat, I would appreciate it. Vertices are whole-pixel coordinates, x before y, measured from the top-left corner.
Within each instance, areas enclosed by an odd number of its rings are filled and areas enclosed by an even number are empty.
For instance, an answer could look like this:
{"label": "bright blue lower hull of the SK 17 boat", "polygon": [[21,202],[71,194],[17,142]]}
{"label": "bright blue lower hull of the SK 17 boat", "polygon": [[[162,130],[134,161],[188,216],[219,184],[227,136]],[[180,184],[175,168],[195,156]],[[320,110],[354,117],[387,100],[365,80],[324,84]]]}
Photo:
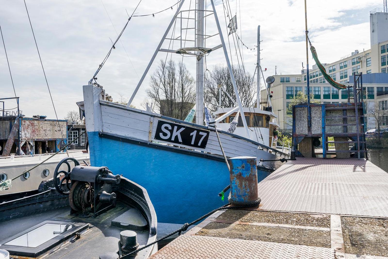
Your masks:
{"label": "bright blue lower hull of the SK 17 boat", "polygon": [[[218,196],[230,184],[222,158],[99,132],[88,132],[88,140],[91,165],[147,189],[158,222],[183,224],[227,203]],[[259,169],[259,181],[269,174]]]}

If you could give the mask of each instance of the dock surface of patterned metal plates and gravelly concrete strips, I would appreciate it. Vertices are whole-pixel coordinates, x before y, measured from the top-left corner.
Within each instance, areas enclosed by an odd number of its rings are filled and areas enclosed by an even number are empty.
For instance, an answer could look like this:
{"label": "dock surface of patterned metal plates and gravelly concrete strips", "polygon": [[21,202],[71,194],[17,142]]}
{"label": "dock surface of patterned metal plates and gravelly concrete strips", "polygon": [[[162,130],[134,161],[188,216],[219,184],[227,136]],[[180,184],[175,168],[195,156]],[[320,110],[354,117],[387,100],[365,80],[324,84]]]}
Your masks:
{"label": "dock surface of patterned metal plates and gravelly concrete strips", "polygon": [[371,162],[297,158],[258,190],[259,207],[218,211],[151,258],[388,258],[388,174]]}

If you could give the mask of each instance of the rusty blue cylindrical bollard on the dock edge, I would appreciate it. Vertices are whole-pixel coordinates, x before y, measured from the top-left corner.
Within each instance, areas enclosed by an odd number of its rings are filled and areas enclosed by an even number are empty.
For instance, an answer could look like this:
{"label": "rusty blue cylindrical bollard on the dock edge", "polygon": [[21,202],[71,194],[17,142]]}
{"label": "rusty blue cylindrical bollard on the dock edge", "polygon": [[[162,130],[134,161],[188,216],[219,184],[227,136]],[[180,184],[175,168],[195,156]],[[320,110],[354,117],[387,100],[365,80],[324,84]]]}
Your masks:
{"label": "rusty blue cylindrical bollard on the dock edge", "polygon": [[230,158],[230,203],[245,205],[258,200],[256,157]]}

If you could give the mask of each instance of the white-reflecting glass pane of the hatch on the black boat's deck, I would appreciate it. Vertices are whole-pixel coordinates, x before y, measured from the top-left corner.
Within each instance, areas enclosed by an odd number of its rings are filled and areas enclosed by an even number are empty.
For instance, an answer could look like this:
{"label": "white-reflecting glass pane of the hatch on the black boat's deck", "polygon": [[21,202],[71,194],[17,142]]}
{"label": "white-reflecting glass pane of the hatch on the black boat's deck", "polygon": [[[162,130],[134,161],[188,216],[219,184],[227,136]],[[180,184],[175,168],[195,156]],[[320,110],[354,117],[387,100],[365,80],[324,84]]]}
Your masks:
{"label": "white-reflecting glass pane of the hatch on the black boat's deck", "polygon": [[4,245],[35,248],[73,227],[73,224],[45,223],[38,228],[35,228],[21,236],[18,236],[17,238],[10,240]]}

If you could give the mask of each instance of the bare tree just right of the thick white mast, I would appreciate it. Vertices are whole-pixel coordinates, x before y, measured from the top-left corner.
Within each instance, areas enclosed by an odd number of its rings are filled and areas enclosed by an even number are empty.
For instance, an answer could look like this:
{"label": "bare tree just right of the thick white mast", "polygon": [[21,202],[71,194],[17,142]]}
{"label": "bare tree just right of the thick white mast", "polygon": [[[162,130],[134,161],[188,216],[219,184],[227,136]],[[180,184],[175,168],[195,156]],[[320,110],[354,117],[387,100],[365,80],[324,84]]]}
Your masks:
{"label": "bare tree just right of the thick white mast", "polygon": [[[253,83],[253,76],[250,73],[236,67],[232,67],[233,75],[236,80],[237,90],[244,107],[253,106],[256,100],[256,85]],[[225,87],[226,92],[236,101],[232,80],[230,79],[229,70],[221,64],[213,66],[211,71],[205,74],[205,102],[212,111],[217,110],[219,102],[218,85]],[[229,97],[222,93],[221,107],[234,107],[235,104]]]}

